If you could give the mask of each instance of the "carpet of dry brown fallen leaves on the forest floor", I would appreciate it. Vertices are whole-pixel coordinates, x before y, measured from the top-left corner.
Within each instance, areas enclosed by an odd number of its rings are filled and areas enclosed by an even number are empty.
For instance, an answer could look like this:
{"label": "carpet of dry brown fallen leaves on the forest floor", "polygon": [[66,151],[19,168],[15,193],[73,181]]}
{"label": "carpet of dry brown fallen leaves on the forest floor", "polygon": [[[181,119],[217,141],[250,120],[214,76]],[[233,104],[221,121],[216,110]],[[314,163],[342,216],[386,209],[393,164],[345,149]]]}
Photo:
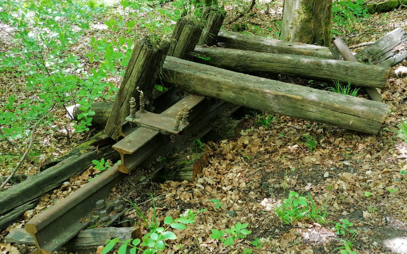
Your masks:
{"label": "carpet of dry brown fallen leaves on the forest floor", "polygon": [[[236,15],[232,6],[227,10],[225,24]],[[248,32],[255,35],[277,35],[282,18],[281,2],[260,3],[250,13],[247,19],[241,18],[226,28],[250,24]],[[361,19],[352,30],[335,26],[334,29],[342,31],[341,36],[352,46],[375,41],[395,27],[407,29],[406,16],[407,9],[402,8]],[[140,30],[140,34],[146,32],[145,29]],[[78,47],[78,50],[85,49],[86,46]],[[4,75],[0,82],[24,84],[23,80],[10,81],[11,78],[12,75]],[[282,79],[295,84],[309,84],[307,80]],[[16,93],[21,88],[9,89]],[[138,207],[147,218],[152,218],[153,206],[145,193],[152,193],[155,197],[160,219],[165,216],[177,218],[187,209],[194,212],[207,209],[198,213],[196,222],[187,229],[174,230],[177,240],[169,242],[164,253],[242,253],[246,248],[252,248],[255,253],[329,253],[338,247],[344,250],[344,243],[351,241],[353,246],[350,249],[357,253],[405,254],[407,175],[401,172],[407,171],[407,144],[398,138],[397,130],[398,125],[407,120],[407,78],[389,80],[379,92],[383,102],[391,106],[391,113],[377,135],[268,112],[264,112],[264,116],[270,119],[270,124],[264,126],[259,123],[258,116],[248,115],[245,118],[246,130],[242,131],[239,139],[204,144],[209,164],[195,182],[154,183],[138,189],[127,198],[140,204]],[[366,95],[361,93],[359,96]],[[61,119],[66,119],[63,112],[60,114]],[[68,120],[61,121],[65,121],[61,123],[64,126]],[[36,134],[42,135],[41,130]],[[68,146],[64,136],[57,134],[45,134],[42,142],[35,145],[40,154],[49,150],[50,146],[53,146],[52,152],[46,153],[44,159],[36,160],[34,166],[26,166],[26,173],[38,171],[52,154],[69,151],[88,135],[72,135],[72,144]],[[316,141],[315,148],[309,149],[305,136]],[[24,227],[26,221],[46,209],[54,198],[67,196],[72,187],[79,182],[83,184],[96,173],[95,169],[89,169],[72,178],[70,188],[65,186],[46,194],[34,210],[26,212],[24,219],[10,228]],[[133,177],[137,174],[131,174],[117,188],[117,194],[131,188]],[[288,198],[290,192],[305,197],[308,204],[311,197],[317,209],[326,210],[326,216],[318,221],[304,217],[284,223],[274,209]],[[218,200],[221,206],[215,208],[216,202],[211,200]],[[131,214],[128,214],[128,219],[140,220]],[[343,234],[337,234],[335,225],[344,219],[353,225],[347,224],[342,228]],[[212,229],[225,230],[236,223],[248,223],[247,229],[251,233],[245,239],[225,247],[219,240],[210,238]],[[350,230],[354,230],[355,235]],[[6,233],[7,230],[1,237]],[[250,243],[255,239],[258,239],[259,245]],[[0,250],[4,254],[16,253],[16,246],[0,243]],[[339,253],[339,250],[334,253]]]}

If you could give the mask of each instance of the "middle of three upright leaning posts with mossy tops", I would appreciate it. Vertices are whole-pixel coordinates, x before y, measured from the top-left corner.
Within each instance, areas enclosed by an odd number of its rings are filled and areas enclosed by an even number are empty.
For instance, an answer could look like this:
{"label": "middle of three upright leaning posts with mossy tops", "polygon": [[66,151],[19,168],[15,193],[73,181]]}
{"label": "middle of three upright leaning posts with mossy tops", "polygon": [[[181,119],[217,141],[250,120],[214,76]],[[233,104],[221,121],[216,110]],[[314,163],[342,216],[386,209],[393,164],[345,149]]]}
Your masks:
{"label": "middle of three upright leaning posts with mossy tops", "polygon": [[201,33],[202,24],[197,23],[194,17],[181,17],[175,24],[167,55],[182,59],[188,58],[198,43]]}

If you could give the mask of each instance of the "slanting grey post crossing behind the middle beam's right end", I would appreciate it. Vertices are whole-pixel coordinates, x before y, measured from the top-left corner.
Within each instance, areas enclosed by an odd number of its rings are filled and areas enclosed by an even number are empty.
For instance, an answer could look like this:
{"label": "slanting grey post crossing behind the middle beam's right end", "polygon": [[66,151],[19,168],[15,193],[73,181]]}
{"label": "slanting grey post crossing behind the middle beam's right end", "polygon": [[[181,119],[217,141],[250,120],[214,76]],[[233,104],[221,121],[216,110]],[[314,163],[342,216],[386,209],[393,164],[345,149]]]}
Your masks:
{"label": "slanting grey post crossing behind the middle beam's right end", "polygon": [[[339,37],[334,41],[334,46],[335,47],[331,47],[333,52],[338,51],[339,54],[343,57],[343,60],[345,61],[350,61],[353,63],[358,63],[358,60],[356,60],[356,57],[353,55],[353,53],[350,51],[350,49],[347,47],[347,45],[343,42],[342,38]],[[334,55],[336,55],[336,57],[340,57],[338,56],[336,53],[332,53]],[[365,73],[364,75],[362,74],[363,77],[368,76],[369,74]],[[389,76],[387,76],[387,78],[389,78]],[[387,81],[384,81],[384,83]],[[352,83],[353,85],[358,85],[355,83]],[[359,85],[360,86],[360,85]],[[376,88],[374,87],[364,87],[363,90],[367,93],[367,95],[369,96],[369,98],[373,101],[376,102],[381,102],[382,101],[382,97],[380,95],[380,93],[377,91]]]}

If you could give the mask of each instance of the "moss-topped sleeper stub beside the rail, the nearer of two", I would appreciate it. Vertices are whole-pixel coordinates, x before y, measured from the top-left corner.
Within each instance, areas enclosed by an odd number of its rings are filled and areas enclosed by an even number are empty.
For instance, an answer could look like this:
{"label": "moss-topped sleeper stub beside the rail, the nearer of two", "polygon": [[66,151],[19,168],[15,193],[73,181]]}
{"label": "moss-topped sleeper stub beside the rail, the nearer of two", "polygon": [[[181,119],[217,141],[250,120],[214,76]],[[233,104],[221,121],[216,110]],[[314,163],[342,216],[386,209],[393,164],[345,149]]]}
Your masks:
{"label": "moss-topped sleeper stub beside the rail, the nearer of two", "polygon": [[[200,150],[199,147],[196,149]],[[164,166],[154,176],[154,181],[194,181],[206,166],[208,156],[205,152],[180,153],[167,158]]]}

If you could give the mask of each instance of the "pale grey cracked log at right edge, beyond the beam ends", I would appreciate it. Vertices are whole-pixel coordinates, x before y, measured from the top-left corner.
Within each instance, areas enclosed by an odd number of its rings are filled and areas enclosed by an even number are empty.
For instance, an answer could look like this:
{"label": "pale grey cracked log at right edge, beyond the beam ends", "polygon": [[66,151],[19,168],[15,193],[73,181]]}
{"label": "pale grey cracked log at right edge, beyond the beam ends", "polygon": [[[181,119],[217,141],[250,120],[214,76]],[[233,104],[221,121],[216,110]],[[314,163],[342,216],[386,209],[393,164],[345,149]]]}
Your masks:
{"label": "pale grey cracked log at right edge, beyond the beam ends", "polygon": [[401,27],[381,37],[355,55],[359,62],[395,66],[407,58],[407,33]]}

